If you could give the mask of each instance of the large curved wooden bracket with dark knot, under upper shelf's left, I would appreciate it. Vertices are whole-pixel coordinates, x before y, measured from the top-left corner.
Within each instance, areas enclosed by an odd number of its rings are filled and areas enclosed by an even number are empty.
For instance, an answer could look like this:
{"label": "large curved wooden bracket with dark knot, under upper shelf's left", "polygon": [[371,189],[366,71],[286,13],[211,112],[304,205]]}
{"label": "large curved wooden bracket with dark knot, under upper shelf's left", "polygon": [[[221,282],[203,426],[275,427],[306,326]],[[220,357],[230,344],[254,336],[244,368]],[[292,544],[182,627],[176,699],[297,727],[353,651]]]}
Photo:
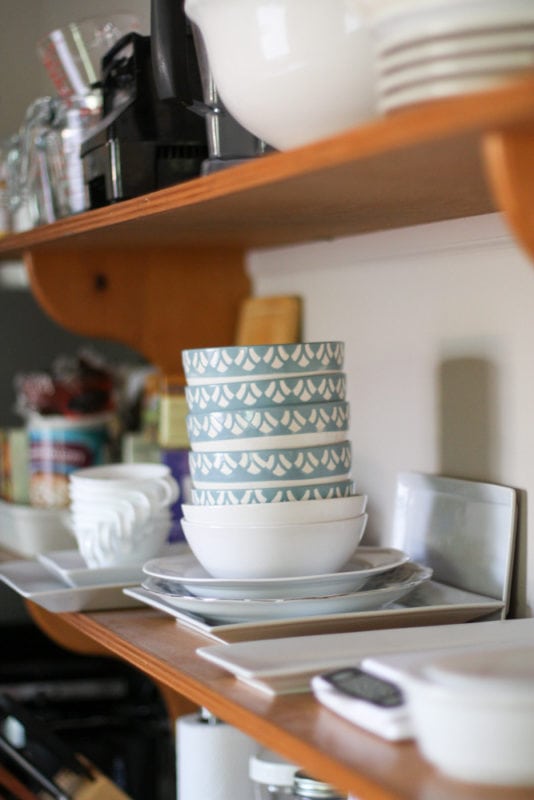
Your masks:
{"label": "large curved wooden bracket with dark knot, under upper shelf's left", "polygon": [[52,319],[130,346],[165,374],[181,351],[233,344],[250,294],[238,248],[72,248],[25,253],[32,291]]}

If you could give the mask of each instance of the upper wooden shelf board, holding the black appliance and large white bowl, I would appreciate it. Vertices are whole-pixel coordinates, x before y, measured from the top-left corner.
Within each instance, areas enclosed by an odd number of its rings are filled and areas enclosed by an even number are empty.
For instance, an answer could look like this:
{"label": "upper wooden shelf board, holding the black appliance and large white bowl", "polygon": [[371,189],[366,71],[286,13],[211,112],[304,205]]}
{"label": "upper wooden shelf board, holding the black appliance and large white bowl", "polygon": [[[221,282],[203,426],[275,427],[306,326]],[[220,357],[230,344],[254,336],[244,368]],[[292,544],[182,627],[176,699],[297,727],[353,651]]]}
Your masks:
{"label": "upper wooden shelf board, holding the black appliance and large white bowl", "polygon": [[533,126],[529,78],[6,236],[0,257],[58,247],[263,247],[482,214],[499,207],[488,137]]}

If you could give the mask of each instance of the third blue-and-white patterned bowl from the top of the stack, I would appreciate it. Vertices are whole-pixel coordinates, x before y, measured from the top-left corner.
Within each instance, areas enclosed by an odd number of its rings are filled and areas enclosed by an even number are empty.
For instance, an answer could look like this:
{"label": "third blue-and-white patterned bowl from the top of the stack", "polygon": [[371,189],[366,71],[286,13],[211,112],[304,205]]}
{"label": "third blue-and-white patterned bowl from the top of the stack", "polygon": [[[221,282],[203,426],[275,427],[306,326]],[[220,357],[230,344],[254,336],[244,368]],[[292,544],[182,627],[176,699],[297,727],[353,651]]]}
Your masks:
{"label": "third blue-and-white patterned bowl from the top of the stack", "polygon": [[215,442],[224,447],[227,440],[346,432],[349,428],[349,404],[309,403],[189,414],[186,424],[193,449],[196,442]]}

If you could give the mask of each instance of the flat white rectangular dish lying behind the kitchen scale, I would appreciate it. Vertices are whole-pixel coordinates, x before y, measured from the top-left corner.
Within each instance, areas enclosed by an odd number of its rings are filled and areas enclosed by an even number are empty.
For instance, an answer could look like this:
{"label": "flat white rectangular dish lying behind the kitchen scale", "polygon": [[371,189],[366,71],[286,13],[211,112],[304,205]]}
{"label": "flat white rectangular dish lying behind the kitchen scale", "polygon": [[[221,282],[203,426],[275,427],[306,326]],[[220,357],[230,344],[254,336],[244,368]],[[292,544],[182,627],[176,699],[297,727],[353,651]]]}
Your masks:
{"label": "flat white rectangular dish lying behind the kitchen scale", "polygon": [[[358,664],[368,667],[365,659],[370,656],[440,650],[445,642],[447,647],[516,642],[532,633],[534,620],[493,620],[448,625],[446,636],[442,625],[429,625],[210,645],[197,653],[248,686],[275,695],[308,692],[314,675]],[[392,679],[391,673],[381,675]]]}

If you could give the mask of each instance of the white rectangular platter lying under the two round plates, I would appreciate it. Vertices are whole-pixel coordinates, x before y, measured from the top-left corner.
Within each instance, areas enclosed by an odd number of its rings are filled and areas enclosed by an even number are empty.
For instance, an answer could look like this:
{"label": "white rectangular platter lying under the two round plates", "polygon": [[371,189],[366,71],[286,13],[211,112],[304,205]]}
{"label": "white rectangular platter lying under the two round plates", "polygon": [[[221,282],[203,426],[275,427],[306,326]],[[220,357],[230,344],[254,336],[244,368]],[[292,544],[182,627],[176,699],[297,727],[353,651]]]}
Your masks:
{"label": "white rectangular platter lying under the two round plates", "polygon": [[343,632],[416,625],[449,625],[485,617],[498,612],[502,606],[502,603],[493,599],[429,581],[410,594],[412,605],[407,605],[405,600],[377,611],[218,623],[206,616],[180,611],[171,606],[164,595],[147,592],[141,586],[125,588],[124,593],[169,614],[179,625],[191,628],[212,641],[225,643],[324,633],[335,635]]}

